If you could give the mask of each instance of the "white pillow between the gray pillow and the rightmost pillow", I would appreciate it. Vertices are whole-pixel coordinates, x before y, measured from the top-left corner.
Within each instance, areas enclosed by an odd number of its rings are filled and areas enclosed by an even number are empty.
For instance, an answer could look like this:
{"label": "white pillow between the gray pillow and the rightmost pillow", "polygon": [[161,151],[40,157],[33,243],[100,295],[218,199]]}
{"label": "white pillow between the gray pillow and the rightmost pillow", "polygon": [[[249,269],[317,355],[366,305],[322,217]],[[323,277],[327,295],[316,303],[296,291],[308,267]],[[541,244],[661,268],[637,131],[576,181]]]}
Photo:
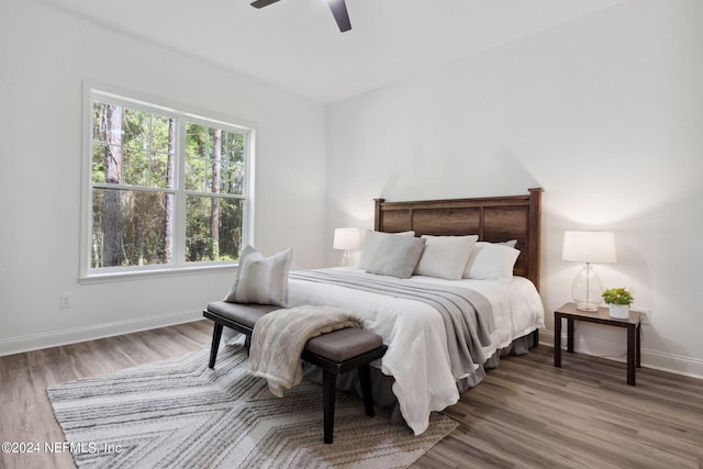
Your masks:
{"label": "white pillow between the gray pillow and the rightmost pillow", "polygon": [[423,235],[422,238],[425,239],[425,250],[415,275],[459,280],[479,237]]}

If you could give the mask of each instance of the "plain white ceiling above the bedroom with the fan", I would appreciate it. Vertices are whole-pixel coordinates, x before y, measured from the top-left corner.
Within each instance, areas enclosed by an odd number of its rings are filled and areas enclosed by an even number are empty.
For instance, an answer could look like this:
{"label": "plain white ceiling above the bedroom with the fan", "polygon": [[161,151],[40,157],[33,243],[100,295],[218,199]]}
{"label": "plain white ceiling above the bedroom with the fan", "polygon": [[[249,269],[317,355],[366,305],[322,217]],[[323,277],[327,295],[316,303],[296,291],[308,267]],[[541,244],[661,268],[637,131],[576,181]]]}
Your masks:
{"label": "plain white ceiling above the bedroom with the fan", "polygon": [[626,0],[42,0],[321,103],[437,68]]}

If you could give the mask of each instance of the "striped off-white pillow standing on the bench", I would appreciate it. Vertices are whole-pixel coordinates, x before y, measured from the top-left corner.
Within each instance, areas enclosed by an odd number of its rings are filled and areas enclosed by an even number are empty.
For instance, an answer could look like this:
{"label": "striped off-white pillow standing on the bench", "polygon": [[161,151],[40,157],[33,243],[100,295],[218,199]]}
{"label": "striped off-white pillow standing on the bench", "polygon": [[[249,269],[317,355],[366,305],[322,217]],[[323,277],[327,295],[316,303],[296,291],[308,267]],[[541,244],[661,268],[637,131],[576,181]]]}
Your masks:
{"label": "striped off-white pillow standing on the bench", "polygon": [[292,248],[265,258],[258,250],[247,245],[242,250],[237,277],[224,301],[286,308],[288,273],[292,259]]}

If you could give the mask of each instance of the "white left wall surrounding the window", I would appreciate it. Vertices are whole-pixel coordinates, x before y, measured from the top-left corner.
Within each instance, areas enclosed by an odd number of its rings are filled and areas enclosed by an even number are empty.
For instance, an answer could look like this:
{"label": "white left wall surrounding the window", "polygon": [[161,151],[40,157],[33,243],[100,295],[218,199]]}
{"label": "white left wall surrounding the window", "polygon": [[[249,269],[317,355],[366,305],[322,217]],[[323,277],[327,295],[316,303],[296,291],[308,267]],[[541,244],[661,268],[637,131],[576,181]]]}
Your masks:
{"label": "white left wall surrounding the window", "polygon": [[256,124],[255,244],[324,264],[322,105],[35,0],[0,10],[0,355],[198,317],[233,279],[78,283],[83,80]]}

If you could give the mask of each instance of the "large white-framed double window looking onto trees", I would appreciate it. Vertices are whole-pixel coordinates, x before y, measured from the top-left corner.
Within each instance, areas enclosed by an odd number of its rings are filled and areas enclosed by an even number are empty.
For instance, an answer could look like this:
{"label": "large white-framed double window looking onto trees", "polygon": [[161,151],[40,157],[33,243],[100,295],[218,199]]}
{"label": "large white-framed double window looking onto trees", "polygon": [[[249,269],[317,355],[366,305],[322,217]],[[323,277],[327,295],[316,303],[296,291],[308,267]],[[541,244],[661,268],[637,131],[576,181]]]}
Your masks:
{"label": "large white-framed double window looking onto trees", "polygon": [[252,129],[89,92],[82,277],[238,259]]}

